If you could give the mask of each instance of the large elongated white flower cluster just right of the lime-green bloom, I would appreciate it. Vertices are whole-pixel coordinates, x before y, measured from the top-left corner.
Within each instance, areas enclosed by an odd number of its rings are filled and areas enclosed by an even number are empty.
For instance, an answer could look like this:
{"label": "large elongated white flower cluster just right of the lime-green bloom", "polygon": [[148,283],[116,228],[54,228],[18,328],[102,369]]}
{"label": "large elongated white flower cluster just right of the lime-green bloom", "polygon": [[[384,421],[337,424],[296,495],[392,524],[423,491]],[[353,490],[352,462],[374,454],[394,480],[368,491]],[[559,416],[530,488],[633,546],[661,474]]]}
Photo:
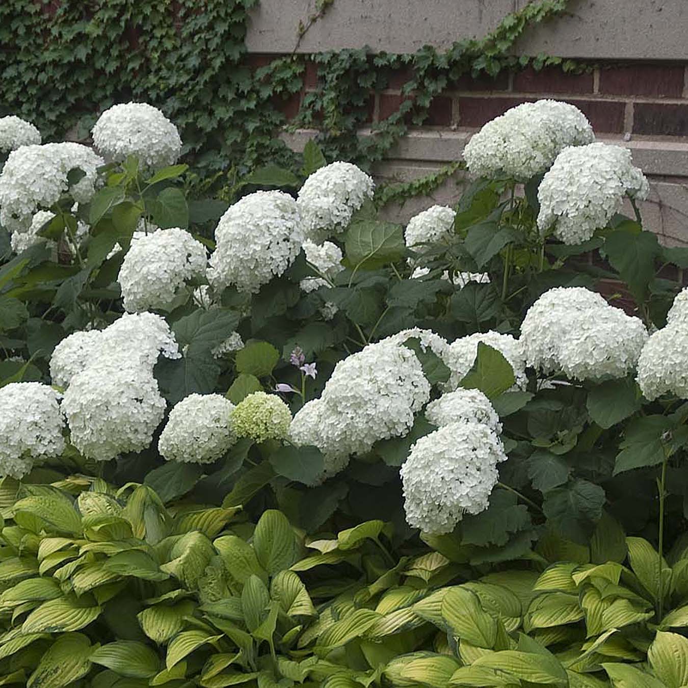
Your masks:
{"label": "large elongated white flower cluster just right of the lime-green bloom", "polygon": [[369,344],[337,363],[321,398],[294,416],[290,438],[318,447],[325,476],[334,475],[350,455],[407,434],[429,398],[430,384],[412,350],[391,340]]}

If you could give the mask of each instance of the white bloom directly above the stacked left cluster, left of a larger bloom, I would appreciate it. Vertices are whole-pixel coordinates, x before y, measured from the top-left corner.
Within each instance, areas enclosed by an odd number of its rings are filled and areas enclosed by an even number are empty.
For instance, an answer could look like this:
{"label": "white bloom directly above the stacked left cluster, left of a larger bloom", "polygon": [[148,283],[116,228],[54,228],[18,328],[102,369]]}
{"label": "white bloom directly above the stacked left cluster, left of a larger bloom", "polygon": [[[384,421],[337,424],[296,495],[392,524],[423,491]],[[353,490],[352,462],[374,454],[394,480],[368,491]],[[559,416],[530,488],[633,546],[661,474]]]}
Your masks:
{"label": "white bloom directly above the stacked left cluster, left of a larger bloom", "polygon": [[206,247],[178,227],[132,241],[117,278],[125,310],[166,308],[187,281],[205,275],[207,263]]}

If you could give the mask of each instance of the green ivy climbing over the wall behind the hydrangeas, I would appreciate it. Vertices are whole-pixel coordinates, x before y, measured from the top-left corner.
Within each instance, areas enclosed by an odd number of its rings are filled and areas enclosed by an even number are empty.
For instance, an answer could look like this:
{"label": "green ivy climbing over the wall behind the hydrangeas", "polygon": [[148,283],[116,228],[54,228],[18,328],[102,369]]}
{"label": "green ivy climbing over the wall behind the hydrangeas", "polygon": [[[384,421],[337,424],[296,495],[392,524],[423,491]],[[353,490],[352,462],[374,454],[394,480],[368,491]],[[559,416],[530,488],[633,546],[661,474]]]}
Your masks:
{"label": "green ivy climbing over the wall behind the hydrangeas", "polygon": [[[4,0],[0,3],[0,115],[32,120],[44,140],[86,140],[100,111],[112,103],[145,100],[180,127],[189,162],[202,175],[244,172],[268,162],[291,164],[275,136],[286,124],[280,106],[301,92],[305,61],[319,86],[305,94],[292,127],[321,131],[328,160],[368,168],[411,125],[427,118],[433,97],[464,74],[570,61],[515,56],[528,26],[563,12],[566,0],[539,0],[509,14],[483,39],[439,52],[413,54],[341,50],[286,56],[252,69],[246,61],[248,12],[259,0]],[[328,2],[329,6],[332,2]],[[395,114],[358,136],[369,120],[371,92],[396,70],[409,69],[406,99]],[[443,175],[436,178],[442,180]],[[431,183],[431,180],[430,182]],[[416,184],[428,191],[427,184]],[[413,189],[397,187],[398,198]]]}

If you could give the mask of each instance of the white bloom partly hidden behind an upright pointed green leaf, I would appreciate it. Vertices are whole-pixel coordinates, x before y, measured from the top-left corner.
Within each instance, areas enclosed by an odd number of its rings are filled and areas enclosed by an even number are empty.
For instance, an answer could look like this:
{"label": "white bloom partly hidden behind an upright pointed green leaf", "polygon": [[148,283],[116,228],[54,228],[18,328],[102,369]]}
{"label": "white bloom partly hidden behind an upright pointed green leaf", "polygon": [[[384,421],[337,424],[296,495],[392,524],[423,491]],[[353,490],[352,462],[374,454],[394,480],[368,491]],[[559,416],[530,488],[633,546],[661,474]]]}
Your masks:
{"label": "white bloom partly hidden behind an upright pointed green leaf", "polygon": [[463,378],[469,374],[477,356],[477,345],[482,342],[506,358],[513,368],[517,389],[525,389],[528,384],[526,377],[526,356],[521,343],[510,334],[500,332],[475,332],[469,336],[456,339],[449,345],[448,360],[445,361],[451,370],[451,377],[446,387],[448,391],[456,389]]}

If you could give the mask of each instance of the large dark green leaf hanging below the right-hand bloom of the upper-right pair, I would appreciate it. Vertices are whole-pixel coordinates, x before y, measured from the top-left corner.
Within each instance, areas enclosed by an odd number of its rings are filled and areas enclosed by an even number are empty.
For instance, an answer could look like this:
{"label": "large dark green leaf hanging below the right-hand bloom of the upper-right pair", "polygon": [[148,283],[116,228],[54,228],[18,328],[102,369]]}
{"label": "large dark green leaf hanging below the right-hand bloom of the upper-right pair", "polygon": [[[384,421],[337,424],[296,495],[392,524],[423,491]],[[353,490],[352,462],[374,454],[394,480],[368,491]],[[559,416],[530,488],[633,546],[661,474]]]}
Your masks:
{"label": "large dark green leaf hanging below the right-hand bloom of the upper-right pair", "polygon": [[604,250],[633,296],[644,301],[654,279],[654,261],[661,252],[657,237],[651,232],[617,229],[608,235]]}

